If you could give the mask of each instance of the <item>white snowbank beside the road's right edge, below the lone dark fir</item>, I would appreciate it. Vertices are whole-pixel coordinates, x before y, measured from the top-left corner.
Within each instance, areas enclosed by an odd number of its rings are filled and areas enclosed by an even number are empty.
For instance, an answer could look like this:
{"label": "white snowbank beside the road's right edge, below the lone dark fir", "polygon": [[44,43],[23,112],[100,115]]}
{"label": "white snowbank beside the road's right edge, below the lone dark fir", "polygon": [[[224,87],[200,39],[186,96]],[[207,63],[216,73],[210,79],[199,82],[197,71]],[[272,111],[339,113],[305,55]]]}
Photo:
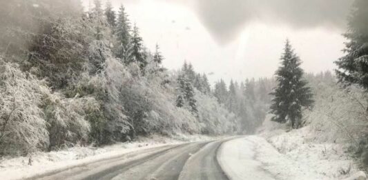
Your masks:
{"label": "white snowbank beside the road's right edge, below the lone dark fir", "polygon": [[[231,179],[344,179],[362,173],[344,152],[332,152],[336,147],[326,145],[325,149],[325,145],[293,137],[296,134],[283,135],[295,141],[285,143],[287,140],[274,137],[271,144],[259,136],[228,141],[218,154],[220,166]],[[281,147],[287,152],[278,150]]]}

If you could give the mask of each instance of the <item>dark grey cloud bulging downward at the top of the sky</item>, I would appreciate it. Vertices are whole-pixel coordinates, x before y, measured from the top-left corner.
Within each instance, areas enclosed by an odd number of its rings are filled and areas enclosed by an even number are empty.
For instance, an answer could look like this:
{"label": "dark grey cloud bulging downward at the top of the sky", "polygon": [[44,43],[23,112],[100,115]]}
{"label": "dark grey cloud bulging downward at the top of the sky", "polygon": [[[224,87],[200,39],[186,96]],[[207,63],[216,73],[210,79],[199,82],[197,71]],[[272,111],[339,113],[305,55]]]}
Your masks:
{"label": "dark grey cloud bulging downward at the top of the sky", "polygon": [[221,44],[238,37],[252,21],[291,28],[344,28],[351,3],[352,0],[193,0],[200,21]]}

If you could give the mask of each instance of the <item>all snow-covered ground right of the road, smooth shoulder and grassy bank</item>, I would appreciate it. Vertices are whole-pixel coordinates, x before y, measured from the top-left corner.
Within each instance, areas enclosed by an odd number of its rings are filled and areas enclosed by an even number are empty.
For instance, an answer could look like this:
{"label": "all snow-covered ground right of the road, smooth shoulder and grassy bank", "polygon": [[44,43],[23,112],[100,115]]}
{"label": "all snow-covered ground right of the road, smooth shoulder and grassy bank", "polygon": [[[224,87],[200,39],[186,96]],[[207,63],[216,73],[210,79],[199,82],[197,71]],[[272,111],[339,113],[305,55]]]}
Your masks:
{"label": "all snow-covered ground right of the road, smooth shoulder and grassy bank", "polygon": [[288,130],[267,118],[260,134],[224,143],[220,165],[231,179],[365,179],[351,143],[321,140],[326,132],[313,128]]}

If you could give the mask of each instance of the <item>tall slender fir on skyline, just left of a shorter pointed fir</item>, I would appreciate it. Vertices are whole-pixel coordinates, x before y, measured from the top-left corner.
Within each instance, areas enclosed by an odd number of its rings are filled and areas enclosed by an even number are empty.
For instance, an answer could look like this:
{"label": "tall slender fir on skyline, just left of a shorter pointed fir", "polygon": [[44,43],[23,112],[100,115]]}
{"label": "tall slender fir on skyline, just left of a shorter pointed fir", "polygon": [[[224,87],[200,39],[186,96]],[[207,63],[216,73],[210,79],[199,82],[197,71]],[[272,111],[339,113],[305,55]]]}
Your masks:
{"label": "tall slender fir on skyline, just left of a shorter pointed fir", "polygon": [[128,14],[125,12],[124,6],[120,6],[119,14],[117,16],[115,36],[117,39],[117,48],[115,50],[115,55],[119,59],[128,62],[128,51],[130,49],[130,21],[128,19]]}

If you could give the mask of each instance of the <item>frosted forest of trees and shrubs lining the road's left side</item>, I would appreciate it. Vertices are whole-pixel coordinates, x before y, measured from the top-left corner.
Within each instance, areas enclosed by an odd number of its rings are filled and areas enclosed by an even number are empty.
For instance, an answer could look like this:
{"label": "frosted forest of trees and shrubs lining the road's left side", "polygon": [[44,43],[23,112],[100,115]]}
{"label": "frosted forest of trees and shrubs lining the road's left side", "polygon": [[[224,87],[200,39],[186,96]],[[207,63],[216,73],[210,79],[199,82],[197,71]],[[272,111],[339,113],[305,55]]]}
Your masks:
{"label": "frosted forest of trees and shrubs lining the road's left side", "polygon": [[269,80],[228,90],[211,88],[191,63],[167,70],[170,59],[144,46],[124,6],[1,1],[0,16],[0,156],[152,134],[251,133],[267,113]]}

